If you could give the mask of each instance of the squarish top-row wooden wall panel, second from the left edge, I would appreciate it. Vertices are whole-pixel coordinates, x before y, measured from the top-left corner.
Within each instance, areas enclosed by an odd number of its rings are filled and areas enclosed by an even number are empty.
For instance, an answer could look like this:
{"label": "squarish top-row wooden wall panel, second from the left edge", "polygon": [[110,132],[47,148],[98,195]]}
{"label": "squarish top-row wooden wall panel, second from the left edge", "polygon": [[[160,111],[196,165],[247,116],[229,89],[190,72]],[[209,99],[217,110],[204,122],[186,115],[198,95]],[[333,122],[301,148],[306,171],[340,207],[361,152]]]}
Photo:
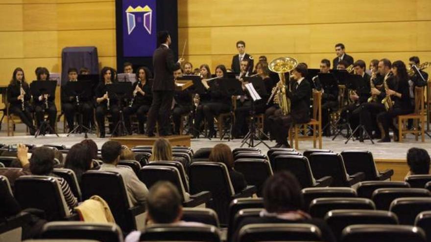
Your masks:
{"label": "squarish top-row wooden wall panel, second from the left edge", "polygon": [[23,4],[24,30],[57,30],[56,4]]}

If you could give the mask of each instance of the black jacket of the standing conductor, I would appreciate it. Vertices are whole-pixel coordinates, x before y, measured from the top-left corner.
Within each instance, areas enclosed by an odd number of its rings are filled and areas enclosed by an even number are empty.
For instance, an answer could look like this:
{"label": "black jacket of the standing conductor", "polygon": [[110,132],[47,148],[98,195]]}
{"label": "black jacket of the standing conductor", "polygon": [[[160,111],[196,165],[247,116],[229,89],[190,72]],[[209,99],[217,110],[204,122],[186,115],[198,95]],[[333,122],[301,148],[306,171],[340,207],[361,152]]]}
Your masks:
{"label": "black jacket of the standing conductor", "polygon": [[174,61],[173,51],[161,44],[153,54],[154,82],[152,89],[154,91],[175,89],[173,72],[181,68],[180,63]]}

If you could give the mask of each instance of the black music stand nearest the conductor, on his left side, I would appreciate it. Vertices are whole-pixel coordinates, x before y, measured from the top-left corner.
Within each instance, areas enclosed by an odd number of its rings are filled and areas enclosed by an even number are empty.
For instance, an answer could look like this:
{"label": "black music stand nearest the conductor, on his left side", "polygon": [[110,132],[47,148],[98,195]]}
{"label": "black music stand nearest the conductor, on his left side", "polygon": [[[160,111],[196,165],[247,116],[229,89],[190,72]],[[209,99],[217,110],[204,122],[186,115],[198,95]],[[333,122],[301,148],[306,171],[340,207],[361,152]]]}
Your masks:
{"label": "black music stand nearest the conductor, on his left side", "polygon": [[124,123],[124,113],[123,113],[123,100],[130,100],[133,98],[133,87],[130,82],[117,82],[111,85],[106,85],[106,90],[108,91],[109,98],[116,97],[119,102],[120,109],[120,120],[115,125],[112,131],[111,137],[113,137],[118,130],[118,136],[126,135],[126,125]]}

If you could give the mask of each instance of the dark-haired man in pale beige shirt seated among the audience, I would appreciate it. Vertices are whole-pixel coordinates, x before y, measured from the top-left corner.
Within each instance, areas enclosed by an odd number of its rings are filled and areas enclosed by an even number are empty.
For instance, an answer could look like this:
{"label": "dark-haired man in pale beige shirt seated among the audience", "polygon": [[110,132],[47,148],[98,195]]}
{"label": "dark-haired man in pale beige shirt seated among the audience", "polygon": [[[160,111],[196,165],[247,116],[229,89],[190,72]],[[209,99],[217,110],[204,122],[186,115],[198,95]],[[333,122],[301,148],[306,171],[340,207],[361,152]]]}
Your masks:
{"label": "dark-haired man in pale beige shirt seated among the audience", "polygon": [[148,196],[148,189],[145,184],[139,180],[138,176],[130,168],[117,167],[120,160],[121,144],[117,141],[107,141],[102,146],[103,164],[100,171],[119,173],[126,185],[127,196],[133,205],[144,203]]}

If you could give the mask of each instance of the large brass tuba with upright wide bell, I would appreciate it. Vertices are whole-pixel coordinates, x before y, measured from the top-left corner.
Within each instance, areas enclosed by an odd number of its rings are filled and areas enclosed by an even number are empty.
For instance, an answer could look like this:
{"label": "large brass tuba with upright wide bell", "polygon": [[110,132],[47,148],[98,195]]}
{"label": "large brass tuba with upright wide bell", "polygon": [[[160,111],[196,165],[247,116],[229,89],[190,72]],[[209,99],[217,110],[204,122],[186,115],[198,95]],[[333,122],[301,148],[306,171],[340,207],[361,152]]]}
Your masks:
{"label": "large brass tuba with upright wide bell", "polygon": [[[269,97],[269,100],[272,99],[274,94],[277,95],[279,106],[283,112],[283,115],[287,115],[290,113],[290,99],[286,95],[286,88],[285,88],[286,87],[285,73],[290,72],[297,65],[298,65],[298,61],[290,57],[280,57],[275,60],[272,60],[268,64],[268,68],[272,72],[278,73],[280,77],[280,81],[277,83],[277,87],[274,90],[274,92],[271,93],[271,97]],[[289,85],[289,89],[290,89],[290,85]]]}

